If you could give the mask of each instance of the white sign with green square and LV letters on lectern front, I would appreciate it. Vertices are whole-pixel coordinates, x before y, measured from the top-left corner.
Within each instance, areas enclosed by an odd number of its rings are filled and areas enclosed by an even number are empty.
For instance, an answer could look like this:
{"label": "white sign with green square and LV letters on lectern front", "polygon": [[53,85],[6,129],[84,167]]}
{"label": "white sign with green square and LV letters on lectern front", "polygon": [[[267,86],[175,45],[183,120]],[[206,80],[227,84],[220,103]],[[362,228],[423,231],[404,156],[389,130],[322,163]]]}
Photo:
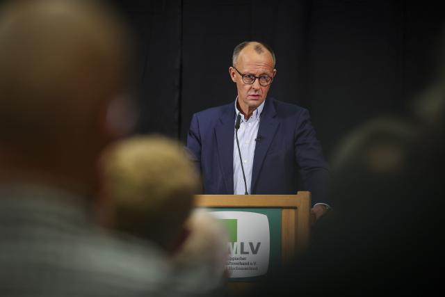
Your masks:
{"label": "white sign with green square and LV letters on lectern front", "polygon": [[248,278],[267,273],[269,266],[270,232],[264,214],[248,211],[213,211],[227,226],[231,278]]}

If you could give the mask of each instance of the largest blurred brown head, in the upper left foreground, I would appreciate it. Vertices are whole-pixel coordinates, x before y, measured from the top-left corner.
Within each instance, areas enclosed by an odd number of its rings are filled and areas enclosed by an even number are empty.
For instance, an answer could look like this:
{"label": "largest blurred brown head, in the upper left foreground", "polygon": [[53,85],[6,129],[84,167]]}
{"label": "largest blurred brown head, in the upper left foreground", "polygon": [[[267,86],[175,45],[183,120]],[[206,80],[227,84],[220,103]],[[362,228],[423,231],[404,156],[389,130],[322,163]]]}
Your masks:
{"label": "largest blurred brown head, in the upper left foreground", "polygon": [[127,36],[96,1],[3,6],[0,178],[92,191],[99,152],[115,137],[108,107],[127,90]]}

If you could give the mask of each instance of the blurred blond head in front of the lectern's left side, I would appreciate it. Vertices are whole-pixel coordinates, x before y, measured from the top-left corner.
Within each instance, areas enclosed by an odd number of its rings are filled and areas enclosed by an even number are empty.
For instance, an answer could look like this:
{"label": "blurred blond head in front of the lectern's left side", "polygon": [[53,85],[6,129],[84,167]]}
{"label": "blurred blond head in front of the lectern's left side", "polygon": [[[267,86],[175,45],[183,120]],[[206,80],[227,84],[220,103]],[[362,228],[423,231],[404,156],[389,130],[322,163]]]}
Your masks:
{"label": "blurred blond head in front of the lectern's left side", "polygon": [[175,250],[199,185],[180,144],[162,136],[133,136],[111,145],[101,165],[112,227]]}

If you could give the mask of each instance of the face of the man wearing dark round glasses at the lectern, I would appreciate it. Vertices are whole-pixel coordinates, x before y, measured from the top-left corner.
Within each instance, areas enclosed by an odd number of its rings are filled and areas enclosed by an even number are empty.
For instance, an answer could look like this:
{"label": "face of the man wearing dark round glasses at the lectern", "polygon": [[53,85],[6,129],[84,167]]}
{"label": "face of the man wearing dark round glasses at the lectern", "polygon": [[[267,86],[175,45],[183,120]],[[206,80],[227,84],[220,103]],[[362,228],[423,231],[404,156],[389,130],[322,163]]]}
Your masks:
{"label": "face of the man wearing dark round glasses at the lectern", "polygon": [[268,51],[264,50],[261,54],[258,54],[253,47],[247,46],[238,56],[236,69],[229,67],[230,77],[236,83],[238,89],[238,104],[243,113],[247,115],[252,113],[264,102],[270,85],[261,86],[259,79],[255,79],[252,84],[244,83],[241,74],[253,74],[255,77],[264,75],[275,77],[277,70],[273,66],[273,58]]}

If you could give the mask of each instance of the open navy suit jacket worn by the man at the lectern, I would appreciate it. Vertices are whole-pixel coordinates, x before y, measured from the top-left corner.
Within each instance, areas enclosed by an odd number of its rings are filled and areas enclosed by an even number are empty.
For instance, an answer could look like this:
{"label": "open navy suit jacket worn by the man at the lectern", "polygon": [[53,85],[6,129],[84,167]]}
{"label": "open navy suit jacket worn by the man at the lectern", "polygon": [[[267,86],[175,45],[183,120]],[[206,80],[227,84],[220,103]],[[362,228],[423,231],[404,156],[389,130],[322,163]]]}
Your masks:
{"label": "open navy suit jacket worn by the man at the lectern", "polygon": [[[187,148],[202,173],[204,194],[234,193],[235,104],[193,115]],[[252,167],[252,194],[311,191],[312,204],[329,204],[329,171],[309,112],[268,97],[259,122]]]}

